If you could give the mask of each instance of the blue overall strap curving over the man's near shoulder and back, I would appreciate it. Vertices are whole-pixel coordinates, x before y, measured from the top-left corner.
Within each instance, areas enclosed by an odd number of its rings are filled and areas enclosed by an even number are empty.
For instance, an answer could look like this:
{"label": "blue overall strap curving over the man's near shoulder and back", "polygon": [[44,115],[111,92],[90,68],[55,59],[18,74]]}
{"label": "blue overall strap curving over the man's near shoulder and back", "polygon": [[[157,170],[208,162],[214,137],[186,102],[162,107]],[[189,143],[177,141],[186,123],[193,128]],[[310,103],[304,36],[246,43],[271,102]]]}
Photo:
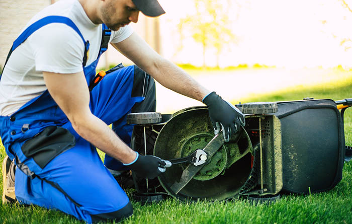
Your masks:
{"label": "blue overall strap curving over the man's near shoulder and back", "polygon": [[[63,23],[63,24],[66,24],[67,26],[71,27],[74,31],[76,31],[76,33],[82,39],[82,42],[84,44],[83,66],[85,66],[86,60],[87,60],[87,53],[88,53],[89,45],[90,45],[89,41],[84,40],[83,35],[78,30],[77,26],[69,18],[63,17],[63,16],[47,16],[47,17],[44,17],[44,18],[38,20],[37,22],[33,23],[29,27],[27,27],[27,29],[25,31],[23,31],[21,33],[21,35],[14,41],[14,43],[10,49],[10,52],[7,56],[6,62],[4,64],[4,68],[10,58],[11,53],[18,46],[20,46],[23,42],[25,42],[27,40],[27,38],[29,36],[31,36],[35,31],[37,31],[38,29],[42,28],[43,26],[51,24],[51,23]],[[4,68],[3,68],[3,71],[4,71]],[[3,71],[1,74],[3,74]],[[1,74],[0,74],[0,79],[1,79]]]}

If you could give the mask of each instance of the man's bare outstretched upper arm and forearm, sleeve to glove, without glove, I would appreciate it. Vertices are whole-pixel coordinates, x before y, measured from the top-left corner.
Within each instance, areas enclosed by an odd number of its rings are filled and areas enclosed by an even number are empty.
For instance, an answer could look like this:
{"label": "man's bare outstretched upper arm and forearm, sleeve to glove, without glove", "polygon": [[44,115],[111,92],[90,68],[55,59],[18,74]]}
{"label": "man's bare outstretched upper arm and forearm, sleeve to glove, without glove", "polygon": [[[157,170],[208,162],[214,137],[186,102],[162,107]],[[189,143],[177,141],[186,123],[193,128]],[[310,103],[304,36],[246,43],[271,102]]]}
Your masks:
{"label": "man's bare outstretched upper arm and forearm, sleeve to glove, without glove", "polygon": [[157,54],[135,33],[112,45],[170,90],[199,101],[210,93],[184,70]]}

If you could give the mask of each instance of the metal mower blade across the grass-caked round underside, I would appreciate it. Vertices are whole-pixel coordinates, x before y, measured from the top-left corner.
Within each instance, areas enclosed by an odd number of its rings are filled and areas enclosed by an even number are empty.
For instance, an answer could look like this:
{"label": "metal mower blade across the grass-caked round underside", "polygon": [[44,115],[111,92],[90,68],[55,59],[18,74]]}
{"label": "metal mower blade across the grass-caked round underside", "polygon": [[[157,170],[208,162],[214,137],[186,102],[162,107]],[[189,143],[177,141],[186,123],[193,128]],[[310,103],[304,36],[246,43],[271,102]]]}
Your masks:
{"label": "metal mower blade across the grass-caked round underside", "polygon": [[[204,147],[203,151],[207,154],[208,160],[219,150],[219,148],[224,144],[225,140],[220,131],[217,135],[209,141],[209,143]],[[188,167],[182,172],[180,181],[175,181],[171,186],[170,189],[175,193],[178,194],[191,180],[192,178],[202,169],[205,164],[194,166],[188,165]]]}

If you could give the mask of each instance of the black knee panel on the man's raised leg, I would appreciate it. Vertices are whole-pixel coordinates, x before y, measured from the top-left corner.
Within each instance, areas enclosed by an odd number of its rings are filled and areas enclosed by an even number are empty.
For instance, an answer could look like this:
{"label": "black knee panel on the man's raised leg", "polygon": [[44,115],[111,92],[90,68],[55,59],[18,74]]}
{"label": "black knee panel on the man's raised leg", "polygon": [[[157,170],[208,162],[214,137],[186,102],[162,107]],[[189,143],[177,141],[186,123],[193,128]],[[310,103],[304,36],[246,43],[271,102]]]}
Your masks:
{"label": "black knee panel on the man's raised leg", "polygon": [[149,74],[138,66],[134,65],[134,79],[132,87],[132,97],[143,96],[145,99],[136,103],[132,108],[132,113],[154,112],[156,109],[155,81]]}

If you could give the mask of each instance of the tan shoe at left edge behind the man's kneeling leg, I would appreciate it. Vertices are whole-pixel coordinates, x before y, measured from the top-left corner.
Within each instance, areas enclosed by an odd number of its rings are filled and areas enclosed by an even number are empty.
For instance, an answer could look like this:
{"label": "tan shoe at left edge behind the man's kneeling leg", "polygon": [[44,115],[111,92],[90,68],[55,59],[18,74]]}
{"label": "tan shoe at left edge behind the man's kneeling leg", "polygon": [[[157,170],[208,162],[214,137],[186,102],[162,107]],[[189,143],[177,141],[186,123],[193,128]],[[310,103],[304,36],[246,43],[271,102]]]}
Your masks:
{"label": "tan shoe at left edge behind the man's kneeling leg", "polygon": [[16,165],[8,156],[3,161],[3,204],[16,202],[15,196]]}

